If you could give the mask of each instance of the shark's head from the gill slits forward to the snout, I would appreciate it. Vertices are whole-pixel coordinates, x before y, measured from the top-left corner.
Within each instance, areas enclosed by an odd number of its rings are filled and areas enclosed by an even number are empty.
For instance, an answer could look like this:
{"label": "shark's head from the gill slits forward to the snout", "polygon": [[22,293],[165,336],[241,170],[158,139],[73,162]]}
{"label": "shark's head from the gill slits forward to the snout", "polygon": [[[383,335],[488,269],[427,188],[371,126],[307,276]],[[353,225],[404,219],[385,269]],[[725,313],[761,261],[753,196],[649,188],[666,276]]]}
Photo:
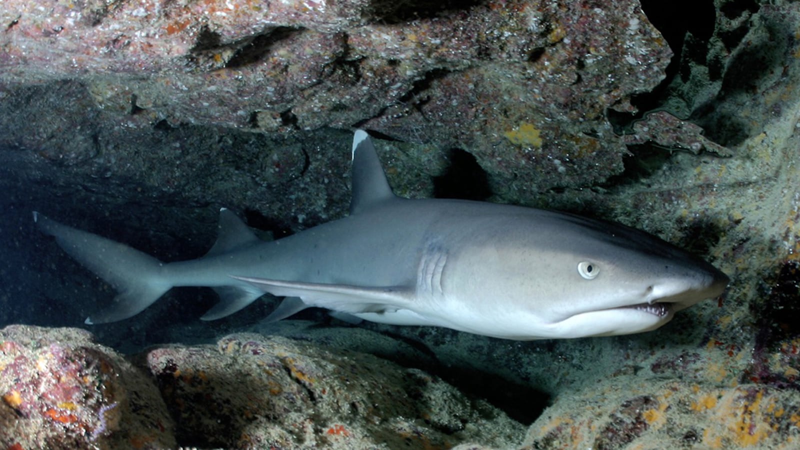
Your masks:
{"label": "shark's head from the gill slits forward to the snout", "polygon": [[[729,282],[709,263],[644,231],[550,211],[534,214],[530,223],[537,230],[526,227],[525,216],[498,230],[515,235],[505,241],[512,246],[477,243],[451,261],[459,266],[451,273],[482,267],[459,274],[459,283],[473,291],[492,284],[494,295],[514,305],[506,316],[482,311],[497,322],[493,333],[483,334],[531,340],[650,331],[675,311],[721,295]],[[479,265],[478,259],[494,262]]]}

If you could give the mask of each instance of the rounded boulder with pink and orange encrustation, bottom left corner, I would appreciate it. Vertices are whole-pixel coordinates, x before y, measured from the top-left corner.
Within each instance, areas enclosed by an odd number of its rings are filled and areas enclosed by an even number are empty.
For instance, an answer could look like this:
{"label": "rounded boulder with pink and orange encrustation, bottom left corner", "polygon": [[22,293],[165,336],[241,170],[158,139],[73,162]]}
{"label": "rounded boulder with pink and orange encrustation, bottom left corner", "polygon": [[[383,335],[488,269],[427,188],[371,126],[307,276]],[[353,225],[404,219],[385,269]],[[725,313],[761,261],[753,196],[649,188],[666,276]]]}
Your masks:
{"label": "rounded boulder with pink and orange encrustation, bottom left corner", "polygon": [[78,328],[0,330],[2,448],[175,448],[174,423],[138,368]]}

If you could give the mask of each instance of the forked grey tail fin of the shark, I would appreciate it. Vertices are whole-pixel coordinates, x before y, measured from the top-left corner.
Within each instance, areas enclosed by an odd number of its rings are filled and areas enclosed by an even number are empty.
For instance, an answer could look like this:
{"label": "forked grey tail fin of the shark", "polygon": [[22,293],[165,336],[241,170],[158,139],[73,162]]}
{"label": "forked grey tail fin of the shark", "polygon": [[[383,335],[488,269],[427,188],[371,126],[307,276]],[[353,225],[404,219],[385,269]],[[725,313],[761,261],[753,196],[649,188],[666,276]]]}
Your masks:
{"label": "forked grey tail fin of the shark", "polygon": [[110,307],[86,323],[127,319],[154,303],[172,284],[162,275],[163,263],[125,244],[67,227],[34,211],[34,222],[79,263],[110,283],[119,294]]}

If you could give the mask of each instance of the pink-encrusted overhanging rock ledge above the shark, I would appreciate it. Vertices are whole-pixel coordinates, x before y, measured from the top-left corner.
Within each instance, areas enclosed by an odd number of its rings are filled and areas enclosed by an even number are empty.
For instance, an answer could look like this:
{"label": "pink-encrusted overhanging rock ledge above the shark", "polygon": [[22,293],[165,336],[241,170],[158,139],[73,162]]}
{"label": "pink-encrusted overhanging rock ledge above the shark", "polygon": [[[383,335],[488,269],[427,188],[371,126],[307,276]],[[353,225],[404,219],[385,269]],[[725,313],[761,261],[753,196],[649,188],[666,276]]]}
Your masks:
{"label": "pink-encrusted overhanging rock ledge above the shark", "polygon": [[461,147],[498,193],[621,171],[604,111],[633,112],[671,55],[634,0],[423,14],[366,0],[10,0],[0,24],[0,82],[79,80],[112,122],[366,127]]}

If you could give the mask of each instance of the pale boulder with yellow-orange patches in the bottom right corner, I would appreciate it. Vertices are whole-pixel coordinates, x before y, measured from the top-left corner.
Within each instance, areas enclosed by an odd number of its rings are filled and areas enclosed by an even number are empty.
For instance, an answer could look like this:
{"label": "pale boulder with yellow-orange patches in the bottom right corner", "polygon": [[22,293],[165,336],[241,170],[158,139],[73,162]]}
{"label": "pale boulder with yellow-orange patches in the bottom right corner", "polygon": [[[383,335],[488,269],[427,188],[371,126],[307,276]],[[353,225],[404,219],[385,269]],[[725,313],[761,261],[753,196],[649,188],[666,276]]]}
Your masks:
{"label": "pale boulder with yellow-orange patches in the bottom right corner", "polygon": [[619,379],[546,409],[523,450],[555,448],[796,448],[800,392]]}

